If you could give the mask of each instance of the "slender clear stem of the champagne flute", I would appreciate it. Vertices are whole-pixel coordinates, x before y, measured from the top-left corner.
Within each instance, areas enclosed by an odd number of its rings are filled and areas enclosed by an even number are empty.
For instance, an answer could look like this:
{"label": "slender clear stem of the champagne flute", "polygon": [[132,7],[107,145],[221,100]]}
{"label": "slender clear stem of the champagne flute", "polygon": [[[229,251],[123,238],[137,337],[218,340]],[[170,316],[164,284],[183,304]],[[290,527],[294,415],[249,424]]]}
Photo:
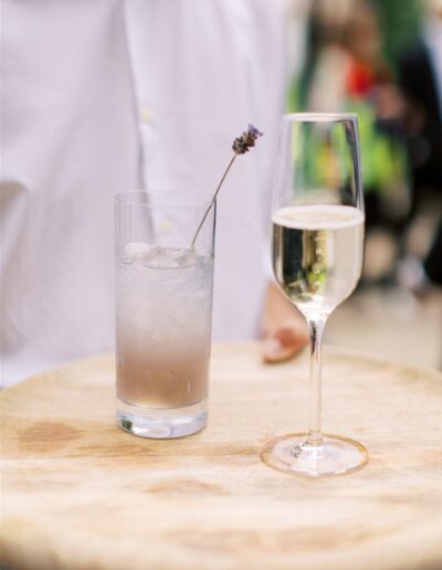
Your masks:
{"label": "slender clear stem of the champagne flute", "polygon": [[309,425],[306,443],[320,445],[323,434],[320,432],[320,370],[322,370],[322,345],[326,318],[309,319],[311,332],[311,394],[309,394]]}

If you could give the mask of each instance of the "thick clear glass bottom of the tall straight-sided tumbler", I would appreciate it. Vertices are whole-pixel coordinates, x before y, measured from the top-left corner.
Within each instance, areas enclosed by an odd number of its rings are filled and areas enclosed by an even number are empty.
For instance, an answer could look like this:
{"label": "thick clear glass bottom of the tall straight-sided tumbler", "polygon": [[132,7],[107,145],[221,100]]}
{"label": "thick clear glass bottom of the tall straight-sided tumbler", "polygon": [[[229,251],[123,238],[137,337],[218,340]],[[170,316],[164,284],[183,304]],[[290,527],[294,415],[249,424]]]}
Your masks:
{"label": "thick clear glass bottom of the tall straight-sided tumbler", "polygon": [[206,426],[207,402],[203,400],[186,408],[158,410],[117,400],[117,422],[123,430],[140,437],[185,437]]}

